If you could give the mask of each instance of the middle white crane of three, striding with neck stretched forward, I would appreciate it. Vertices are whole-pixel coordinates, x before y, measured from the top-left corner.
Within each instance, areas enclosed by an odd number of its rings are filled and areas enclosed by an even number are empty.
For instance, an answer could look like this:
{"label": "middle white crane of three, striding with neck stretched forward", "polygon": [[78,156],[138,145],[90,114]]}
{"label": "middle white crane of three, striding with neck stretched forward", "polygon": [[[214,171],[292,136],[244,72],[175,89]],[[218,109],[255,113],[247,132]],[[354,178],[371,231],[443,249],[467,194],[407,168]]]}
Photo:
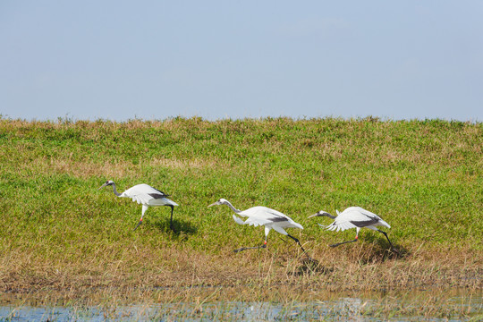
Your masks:
{"label": "middle white crane of three, striding with neck stretched forward", "polygon": [[[233,205],[230,203],[230,201],[223,198],[219,199],[218,201],[209,205],[208,207],[218,206],[218,205],[226,205],[229,208],[232,208],[232,210],[238,216],[248,217],[247,220],[243,221],[240,217],[233,215],[233,219],[235,223],[239,225],[265,226],[265,242],[263,243],[263,245],[255,246],[255,247],[242,247],[238,250],[233,250],[234,252],[239,252],[242,250],[255,250],[260,248],[266,248],[267,236],[268,236],[268,233],[270,233],[271,229],[275,230],[275,232],[277,233],[282,233],[285,236],[292,238],[292,240],[294,240],[299,244],[299,246],[301,246],[301,242],[299,242],[298,239],[296,239],[295,237],[285,232],[284,228],[303,229],[303,227],[300,224],[295,223],[291,217],[282,214],[280,211],[276,211],[275,209],[262,207],[262,206],[257,206],[257,207],[249,208],[242,211],[237,208],[234,208]],[[301,246],[301,250],[305,252],[302,246]]]}

